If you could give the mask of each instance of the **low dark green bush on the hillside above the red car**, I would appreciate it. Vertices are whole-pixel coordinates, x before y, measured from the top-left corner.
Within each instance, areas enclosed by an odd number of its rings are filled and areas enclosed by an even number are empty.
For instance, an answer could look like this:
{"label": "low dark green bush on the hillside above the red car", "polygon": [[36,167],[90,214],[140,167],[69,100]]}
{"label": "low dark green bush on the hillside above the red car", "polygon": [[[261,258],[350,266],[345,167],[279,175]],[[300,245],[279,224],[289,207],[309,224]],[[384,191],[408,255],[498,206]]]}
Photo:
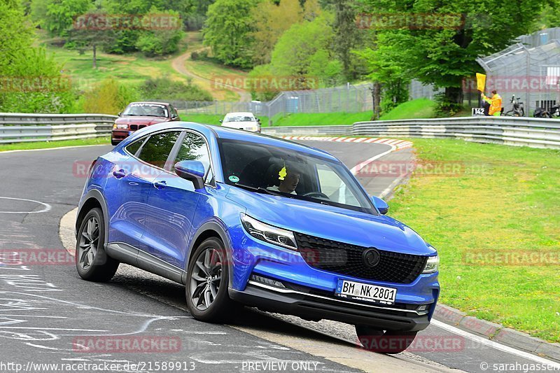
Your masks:
{"label": "low dark green bush on the hillside above the red car", "polygon": [[167,77],[150,78],[141,85],[144,99],[182,100],[182,101],[213,101],[209,92],[187,83],[171,80]]}

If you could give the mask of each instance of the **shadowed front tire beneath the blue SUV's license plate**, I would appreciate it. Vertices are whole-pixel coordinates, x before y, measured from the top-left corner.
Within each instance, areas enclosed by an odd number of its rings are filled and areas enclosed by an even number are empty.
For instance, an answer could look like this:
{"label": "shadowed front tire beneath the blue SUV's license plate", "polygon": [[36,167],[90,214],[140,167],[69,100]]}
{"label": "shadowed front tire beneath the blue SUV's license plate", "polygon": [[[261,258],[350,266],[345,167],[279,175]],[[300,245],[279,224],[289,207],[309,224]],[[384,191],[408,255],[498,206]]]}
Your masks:
{"label": "shadowed front tire beneath the blue SUV's license plate", "polygon": [[379,330],[366,325],[356,325],[358,340],[364,349],[377,353],[400,353],[405,351],[418,332]]}

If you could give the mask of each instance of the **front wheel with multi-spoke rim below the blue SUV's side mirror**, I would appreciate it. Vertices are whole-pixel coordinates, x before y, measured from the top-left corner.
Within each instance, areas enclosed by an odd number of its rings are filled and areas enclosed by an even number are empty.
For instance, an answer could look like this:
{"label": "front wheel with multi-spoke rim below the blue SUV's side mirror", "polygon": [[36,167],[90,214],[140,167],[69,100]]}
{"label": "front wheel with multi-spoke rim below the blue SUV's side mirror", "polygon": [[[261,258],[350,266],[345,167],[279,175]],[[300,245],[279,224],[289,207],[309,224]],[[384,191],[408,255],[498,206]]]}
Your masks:
{"label": "front wheel with multi-spoke rim below the blue SUV's side mirror", "polygon": [[230,321],[239,304],[228,295],[229,276],[228,255],[220,239],[211,237],[195,248],[185,286],[190,314],[209,323]]}

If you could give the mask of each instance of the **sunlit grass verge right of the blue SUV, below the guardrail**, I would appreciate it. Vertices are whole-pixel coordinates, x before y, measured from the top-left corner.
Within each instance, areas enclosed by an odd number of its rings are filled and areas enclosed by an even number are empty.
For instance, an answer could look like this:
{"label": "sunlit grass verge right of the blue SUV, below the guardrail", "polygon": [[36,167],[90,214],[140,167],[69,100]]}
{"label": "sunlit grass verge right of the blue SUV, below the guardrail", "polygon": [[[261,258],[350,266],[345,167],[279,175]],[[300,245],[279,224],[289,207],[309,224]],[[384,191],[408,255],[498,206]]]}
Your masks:
{"label": "sunlit grass verge right of the blue SUV, below the guardrail", "polygon": [[[458,162],[463,169],[458,176],[416,173],[391,201],[391,216],[440,253],[440,301],[560,342],[560,151],[412,141],[419,160]],[[531,266],[465,260],[465,255],[495,251],[550,259],[548,265],[535,259]]]}

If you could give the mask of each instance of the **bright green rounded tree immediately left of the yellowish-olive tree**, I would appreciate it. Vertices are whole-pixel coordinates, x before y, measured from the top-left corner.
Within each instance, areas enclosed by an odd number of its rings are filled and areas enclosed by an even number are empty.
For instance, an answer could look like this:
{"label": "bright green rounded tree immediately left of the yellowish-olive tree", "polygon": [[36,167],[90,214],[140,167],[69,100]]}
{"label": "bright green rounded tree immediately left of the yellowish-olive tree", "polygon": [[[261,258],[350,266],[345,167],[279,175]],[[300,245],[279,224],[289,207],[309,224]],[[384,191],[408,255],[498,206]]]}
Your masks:
{"label": "bright green rounded tree immediately left of the yellowish-olive tree", "polygon": [[253,66],[251,44],[255,22],[252,11],[259,0],[217,0],[209,6],[204,23],[204,44],[223,64]]}

